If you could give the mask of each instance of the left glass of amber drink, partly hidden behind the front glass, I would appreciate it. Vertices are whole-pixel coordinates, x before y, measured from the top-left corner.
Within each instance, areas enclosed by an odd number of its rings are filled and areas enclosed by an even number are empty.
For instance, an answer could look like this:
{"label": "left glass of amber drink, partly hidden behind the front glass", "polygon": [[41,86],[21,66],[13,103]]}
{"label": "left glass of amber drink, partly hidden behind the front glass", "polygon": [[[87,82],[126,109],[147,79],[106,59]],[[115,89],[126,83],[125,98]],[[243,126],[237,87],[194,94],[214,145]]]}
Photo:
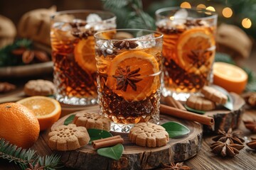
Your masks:
{"label": "left glass of amber drink, partly hidden behind the front glass", "polygon": [[50,42],[55,98],[61,103],[85,106],[97,103],[94,33],[116,28],[107,11],[60,11],[51,16]]}

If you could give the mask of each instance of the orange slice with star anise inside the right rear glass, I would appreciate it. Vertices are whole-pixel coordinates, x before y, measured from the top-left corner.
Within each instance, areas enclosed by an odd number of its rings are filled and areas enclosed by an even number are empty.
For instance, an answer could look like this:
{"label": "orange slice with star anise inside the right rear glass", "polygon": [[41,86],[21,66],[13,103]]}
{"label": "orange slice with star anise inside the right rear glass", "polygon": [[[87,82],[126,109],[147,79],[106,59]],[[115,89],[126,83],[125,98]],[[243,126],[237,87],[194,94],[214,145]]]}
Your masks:
{"label": "orange slice with star anise inside the right rear glass", "polygon": [[206,62],[213,61],[214,49],[214,37],[206,28],[186,30],[177,42],[179,65],[187,71],[191,68],[191,71],[194,71],[193,67],[200,68]]}

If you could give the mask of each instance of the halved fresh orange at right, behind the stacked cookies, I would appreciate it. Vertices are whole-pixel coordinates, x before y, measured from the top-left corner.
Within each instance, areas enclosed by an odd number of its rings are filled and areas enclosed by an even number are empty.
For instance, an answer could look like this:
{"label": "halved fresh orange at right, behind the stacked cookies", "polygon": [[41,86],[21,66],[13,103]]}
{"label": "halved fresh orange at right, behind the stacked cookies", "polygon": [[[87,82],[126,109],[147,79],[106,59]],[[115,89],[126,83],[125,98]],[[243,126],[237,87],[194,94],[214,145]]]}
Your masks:
{"label": "halved fresh orange at right, behind the stacked cookies", "polygon": [[246,72],[233,64],[215,62],[213,64],[213,84],[222,86],[227,91],[241,94],[247,84]]}

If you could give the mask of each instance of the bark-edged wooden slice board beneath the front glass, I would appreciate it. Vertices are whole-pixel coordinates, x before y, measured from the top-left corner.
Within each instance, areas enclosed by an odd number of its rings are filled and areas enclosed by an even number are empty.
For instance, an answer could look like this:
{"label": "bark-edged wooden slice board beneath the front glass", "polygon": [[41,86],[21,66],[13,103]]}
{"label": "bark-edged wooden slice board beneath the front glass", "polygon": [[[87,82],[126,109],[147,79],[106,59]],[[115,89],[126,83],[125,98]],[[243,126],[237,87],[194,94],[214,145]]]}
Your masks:
{"label": "bark-edged wooden slice board beneath the front glass", "polygon": [[[98,109],[90,111],[98,111]],[[68,116],[65,115],[60,118],[53,127],[63,125]],[[169,143],[164,147],[156,148],[134,145],[129,142],[127,133],[120,133],[119,135],[124,138],[124,152],[118,161],[102,157],[97,154],[92,145],[86,145],[74,151],[59,152],[62,154],[62,162],[65,166],[75,169],[153,169],[159,166],[161,162],[165,164],[183,162],[195,156],[201,149],[202,125],[192,121],[172,118],[169,115],[160,115],[160,125],[169,121],[182,123],[191,132],[183,137],[170,139]],[[116,132],[113,134],[116,134]]]}

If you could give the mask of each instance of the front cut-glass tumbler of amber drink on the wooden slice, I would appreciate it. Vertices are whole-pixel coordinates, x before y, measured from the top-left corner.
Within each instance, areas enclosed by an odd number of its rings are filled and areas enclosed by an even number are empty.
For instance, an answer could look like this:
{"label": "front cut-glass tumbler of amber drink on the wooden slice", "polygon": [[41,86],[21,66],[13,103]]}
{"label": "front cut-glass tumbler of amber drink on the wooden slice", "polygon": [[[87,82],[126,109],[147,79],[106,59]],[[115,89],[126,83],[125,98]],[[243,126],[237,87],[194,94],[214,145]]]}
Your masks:
{"label": "front cut-glass tumbler of amber drink on the wooden slice", "polygon": [[95,34],[98,103],[100,113],[112,120],[112,131],[159,123],[162,37],[140,29]]}

